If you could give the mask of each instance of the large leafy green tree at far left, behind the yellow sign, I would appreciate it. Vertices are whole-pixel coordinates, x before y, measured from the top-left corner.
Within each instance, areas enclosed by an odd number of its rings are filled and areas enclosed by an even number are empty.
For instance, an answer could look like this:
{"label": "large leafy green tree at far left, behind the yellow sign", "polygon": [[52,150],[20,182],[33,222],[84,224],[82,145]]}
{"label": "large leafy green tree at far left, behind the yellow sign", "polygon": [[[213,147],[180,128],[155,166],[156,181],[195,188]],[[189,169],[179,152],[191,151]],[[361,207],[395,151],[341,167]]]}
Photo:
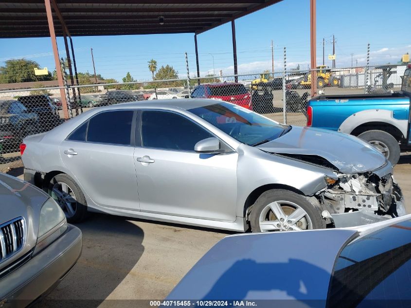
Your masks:
{"label": "large leafy green tree at far left, behind the yellow sign", "polygon": [[36,61],[22,59],[10,59],[5,61],[4,66],[0,67],[0,82],[31,82],[53,80],[52,74],[36,75],[35,68],[40,68]]}

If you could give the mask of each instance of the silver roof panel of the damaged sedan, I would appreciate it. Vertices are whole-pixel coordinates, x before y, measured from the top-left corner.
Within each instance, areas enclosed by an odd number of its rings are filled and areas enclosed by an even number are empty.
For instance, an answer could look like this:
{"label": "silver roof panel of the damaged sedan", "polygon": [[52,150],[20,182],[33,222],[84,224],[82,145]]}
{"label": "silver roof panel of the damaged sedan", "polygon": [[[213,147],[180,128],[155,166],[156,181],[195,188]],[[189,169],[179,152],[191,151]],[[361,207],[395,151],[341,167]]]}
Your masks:
{"label": "silver roof panel of the damaged sedan", "polygon": [[204,106],[210,106],[214,104],[222,103],[220,101],[215,101],[213,99],[203,99],[203,98],[196,98],[196,99],[187,99],[187,98],[180,98],[180,99],[162,99],[162,100],[153,100],[153,101],[138,101],[138,102],[126,102],[120,103],[115,105],[109,105],[104,107],[98,107],[101,110],[104,109],[123,109],[123,108],[166,108],[166,109],[192,109]]}

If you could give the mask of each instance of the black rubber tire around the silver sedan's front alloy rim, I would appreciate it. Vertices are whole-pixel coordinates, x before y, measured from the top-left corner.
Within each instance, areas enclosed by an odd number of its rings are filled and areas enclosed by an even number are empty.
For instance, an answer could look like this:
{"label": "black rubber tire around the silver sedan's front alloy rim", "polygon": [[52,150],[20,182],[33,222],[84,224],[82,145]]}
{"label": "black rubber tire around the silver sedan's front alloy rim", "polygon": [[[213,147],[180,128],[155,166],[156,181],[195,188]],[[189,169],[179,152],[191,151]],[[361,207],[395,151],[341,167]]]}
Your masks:
{"label": "black rubber tire around the silver sedan's front alloy rim", "polygon": [[288,201],[300,206],[312,223],[312,229],[324,229],[325,220],[322,218],[322,208],[315,198],[304,197],[285,189],[271,189],[261,194],[251,208],[250,225],[251,232],[261,232],[260,214],[269,203],[274,201]]}

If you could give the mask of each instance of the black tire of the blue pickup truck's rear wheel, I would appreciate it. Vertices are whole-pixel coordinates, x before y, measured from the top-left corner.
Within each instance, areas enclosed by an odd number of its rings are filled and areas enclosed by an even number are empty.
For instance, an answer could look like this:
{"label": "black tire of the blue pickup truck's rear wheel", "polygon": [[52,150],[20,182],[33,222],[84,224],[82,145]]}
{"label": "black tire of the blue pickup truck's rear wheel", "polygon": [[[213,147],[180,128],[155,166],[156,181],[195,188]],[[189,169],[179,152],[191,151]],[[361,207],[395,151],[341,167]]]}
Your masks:
{"label": "black tire of the blue pickup truck's rear wheel", "polygon": [[378,150],[380,150],[384,156],[393,164],[396,165],[400,159],[400,145],[398,141],[393,137],[393,135],[387,133],[383,130],[368,130],[363,132],[362,134],[358,135],[358,138],[373,144],[373,141],[377,141],[386,145],[388,147],[389,152],[383,152],[380,146],[376,146]]}

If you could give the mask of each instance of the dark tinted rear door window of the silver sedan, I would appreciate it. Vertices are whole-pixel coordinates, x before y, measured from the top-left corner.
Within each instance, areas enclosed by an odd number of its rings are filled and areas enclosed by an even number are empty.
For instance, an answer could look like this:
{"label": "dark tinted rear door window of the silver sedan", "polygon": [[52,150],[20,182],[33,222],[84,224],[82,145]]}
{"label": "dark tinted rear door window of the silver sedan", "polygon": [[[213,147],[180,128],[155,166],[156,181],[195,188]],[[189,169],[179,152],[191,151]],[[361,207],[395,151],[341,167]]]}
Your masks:
{"label": "dark tinted rear door window of the silver sedan", "polygon": [[89,120],[87,141],[113,145],[131,145],[133,114],[133,110],[115,110],[93,116]]}

